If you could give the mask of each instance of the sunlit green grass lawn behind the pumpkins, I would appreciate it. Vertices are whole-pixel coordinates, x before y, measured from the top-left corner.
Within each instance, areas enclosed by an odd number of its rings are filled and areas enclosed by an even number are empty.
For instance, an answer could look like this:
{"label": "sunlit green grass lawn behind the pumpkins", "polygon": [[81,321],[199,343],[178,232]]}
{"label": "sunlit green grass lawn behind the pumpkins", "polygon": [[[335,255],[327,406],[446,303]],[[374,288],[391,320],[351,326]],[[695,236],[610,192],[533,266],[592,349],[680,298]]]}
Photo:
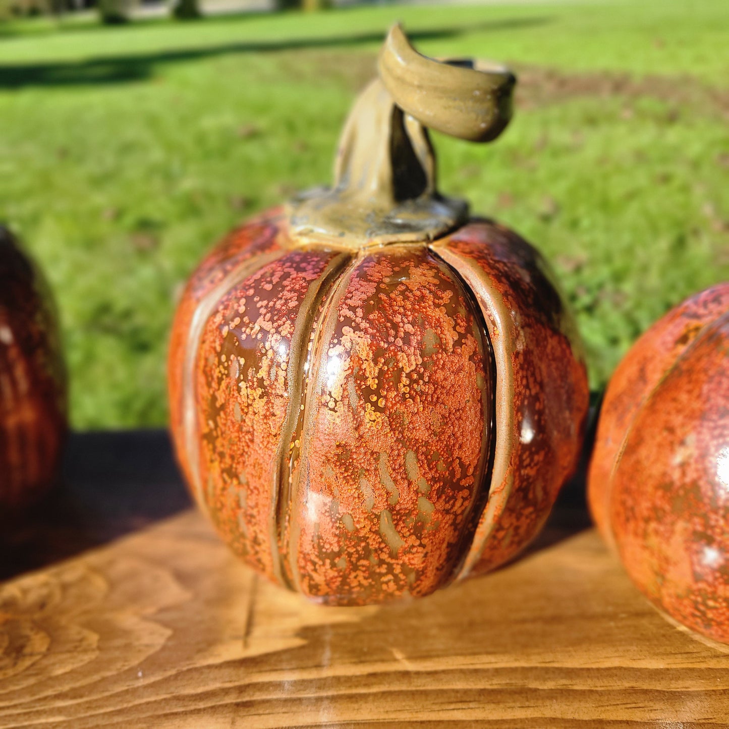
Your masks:
{"label": "sunlit green grass lawn behind the pumpkins", "polygon": [[436,137],[440,187],[553,261],[593,388],[671,305],[729,278],[726,0],[0,25],[0,219],[55,289],[74,426],[165,423],[185,279],[230,227],[330,180],[396,19],[424,52],[519,72],[502,139]]}

